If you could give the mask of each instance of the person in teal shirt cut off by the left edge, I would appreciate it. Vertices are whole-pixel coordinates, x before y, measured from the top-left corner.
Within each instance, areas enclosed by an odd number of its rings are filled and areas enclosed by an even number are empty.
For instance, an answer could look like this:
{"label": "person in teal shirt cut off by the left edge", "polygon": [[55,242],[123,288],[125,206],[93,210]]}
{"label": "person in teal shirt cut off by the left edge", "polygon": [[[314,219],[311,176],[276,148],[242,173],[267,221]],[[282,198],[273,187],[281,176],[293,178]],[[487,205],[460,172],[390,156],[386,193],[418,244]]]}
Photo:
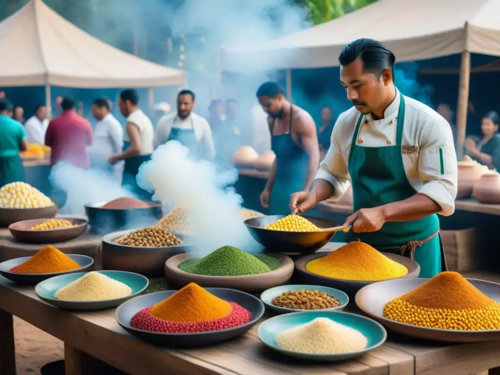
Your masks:
{"label": "person in teal shirt cut off by the left edge", "polygon": [[0,99],[0,187],[16,181],[24,181],[24,167],[19,151],[28,148],[26,132],[22,124],[10,118],[12,104]]}

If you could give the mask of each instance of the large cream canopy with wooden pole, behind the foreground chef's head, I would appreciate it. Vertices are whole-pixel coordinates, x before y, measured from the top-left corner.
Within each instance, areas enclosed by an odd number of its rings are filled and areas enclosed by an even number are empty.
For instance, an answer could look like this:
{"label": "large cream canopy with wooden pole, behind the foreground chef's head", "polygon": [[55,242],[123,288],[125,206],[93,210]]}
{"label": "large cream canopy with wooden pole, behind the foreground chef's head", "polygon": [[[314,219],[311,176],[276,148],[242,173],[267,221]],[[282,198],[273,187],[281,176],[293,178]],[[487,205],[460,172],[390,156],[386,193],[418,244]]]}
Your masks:
{"label": "large cream canopy with wooden pole, behind the foreground chef's head", "polygon": [[462,54],[457,143],[465,138],[470,53],[500,56],[500,0],[378,0],[343,17],[269,42],[224,51],[224,69],[291,69],[338,65],[349,41],[382,41],[396,61]]}

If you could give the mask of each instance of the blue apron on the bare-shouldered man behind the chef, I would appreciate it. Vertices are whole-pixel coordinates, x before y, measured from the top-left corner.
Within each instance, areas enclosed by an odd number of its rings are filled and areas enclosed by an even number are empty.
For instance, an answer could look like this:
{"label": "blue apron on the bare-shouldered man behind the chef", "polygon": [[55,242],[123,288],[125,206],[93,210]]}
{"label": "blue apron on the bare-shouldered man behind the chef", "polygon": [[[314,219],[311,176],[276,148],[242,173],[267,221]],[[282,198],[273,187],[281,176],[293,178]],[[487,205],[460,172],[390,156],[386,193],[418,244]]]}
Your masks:
{"label": "blue apron on the bare-shouldered man behind the chef", "polygon": [[[271,135],[271,149],[276,155],[276,174],[269,198],[269,209],[267,210],[269,215],[290,213],[290,195],[302,191],[307,178],[309,157],[291,137],[292,110],[293,108],[290,106],[288,132],[281,135]],[[272,127],[274,127],[274,122]]]}

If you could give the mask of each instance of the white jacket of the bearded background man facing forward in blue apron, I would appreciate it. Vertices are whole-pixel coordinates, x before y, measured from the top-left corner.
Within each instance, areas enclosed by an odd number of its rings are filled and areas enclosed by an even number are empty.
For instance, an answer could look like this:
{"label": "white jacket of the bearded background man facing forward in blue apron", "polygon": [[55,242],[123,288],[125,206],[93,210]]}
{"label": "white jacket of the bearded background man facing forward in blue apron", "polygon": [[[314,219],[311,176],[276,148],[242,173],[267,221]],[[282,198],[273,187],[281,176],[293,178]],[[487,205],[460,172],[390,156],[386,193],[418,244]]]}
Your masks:
{"label": "white jacket of the bearded background man facing forward in blue apron", "polygon": [[199,143],[204,144],[208,151],[208,156],[215,156],[215,147],[213,146],[212,129],[208,121],[199,114],[191,112],[186,118],[181,119],[177,112],[168,113],[162,116],[156,124],[154,130],[154,147],[164,144],[168,141],[172,127],[179,129],[194,129],[194,137]]}

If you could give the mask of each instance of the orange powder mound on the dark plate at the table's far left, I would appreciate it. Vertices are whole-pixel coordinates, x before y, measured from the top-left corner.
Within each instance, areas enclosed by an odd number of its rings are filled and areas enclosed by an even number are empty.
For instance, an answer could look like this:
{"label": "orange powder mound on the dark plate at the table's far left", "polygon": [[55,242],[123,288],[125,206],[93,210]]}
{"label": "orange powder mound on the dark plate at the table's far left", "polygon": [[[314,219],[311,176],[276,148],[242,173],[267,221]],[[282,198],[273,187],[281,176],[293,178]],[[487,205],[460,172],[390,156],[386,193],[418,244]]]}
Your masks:
{"label": "orange powder mound on the dark plate at the table's far left", "polygon": [[53,273],[71,271],[77,268],[81,268],[81,265],[54,246],[47,245],[29,259],[10,268],[8,271],[18,273]]}

